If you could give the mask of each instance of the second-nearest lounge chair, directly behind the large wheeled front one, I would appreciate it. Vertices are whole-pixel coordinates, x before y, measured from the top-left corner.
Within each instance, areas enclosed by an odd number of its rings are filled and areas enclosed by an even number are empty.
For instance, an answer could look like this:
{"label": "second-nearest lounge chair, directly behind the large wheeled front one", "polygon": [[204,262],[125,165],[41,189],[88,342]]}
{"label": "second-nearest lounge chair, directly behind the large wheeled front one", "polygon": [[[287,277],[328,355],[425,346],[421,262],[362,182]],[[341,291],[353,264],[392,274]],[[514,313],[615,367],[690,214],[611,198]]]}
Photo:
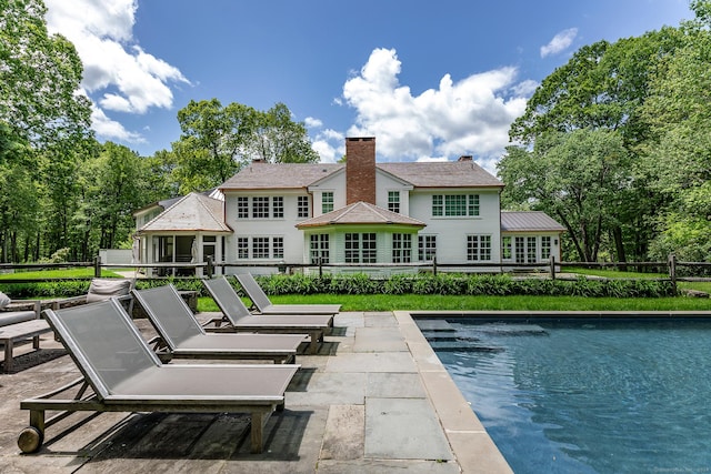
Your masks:
{"label": "second-nearest lounge chair, directly behind the large wheeled front one", "polygon": [[208,334],[173,285],[133,290],[160,335],[159,356],[178,359],[251,359],[293,362],[306,334]]}

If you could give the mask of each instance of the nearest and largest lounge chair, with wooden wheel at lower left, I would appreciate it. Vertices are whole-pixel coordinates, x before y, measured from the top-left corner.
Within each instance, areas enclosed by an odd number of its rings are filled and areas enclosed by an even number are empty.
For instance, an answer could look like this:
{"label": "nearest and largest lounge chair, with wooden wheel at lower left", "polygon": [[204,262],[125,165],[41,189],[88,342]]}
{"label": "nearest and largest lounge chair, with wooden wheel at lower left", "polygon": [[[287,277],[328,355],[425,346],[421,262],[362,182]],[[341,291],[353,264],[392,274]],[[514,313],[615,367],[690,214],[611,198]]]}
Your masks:
{"label": "nearest and largest lounge chair, with wooden wheel at lower left", "polygon": [[[116,300],[46,310],[83,376],[20,403],[30,426],[18,438],[22,452],[37,451],[44,430],[73,412],[249,413],[251,451],[262,451],[263,428],[284,403],[299,369],[291,364],[161,364]],[[76,392],[72,395],[72,392]],[[49,420],[46,411],[60,411]]]}

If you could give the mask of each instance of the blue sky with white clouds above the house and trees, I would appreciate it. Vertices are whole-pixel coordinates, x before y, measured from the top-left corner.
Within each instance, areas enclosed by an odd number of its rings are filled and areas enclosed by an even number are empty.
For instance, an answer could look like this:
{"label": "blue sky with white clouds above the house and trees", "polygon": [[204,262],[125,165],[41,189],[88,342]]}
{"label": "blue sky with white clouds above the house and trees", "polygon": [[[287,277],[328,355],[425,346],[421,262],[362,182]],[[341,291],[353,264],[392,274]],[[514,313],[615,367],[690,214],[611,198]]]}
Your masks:
{"label": "blue sky with white clouds above the house and trees", "polygon": [[688,0],[46,0],[77,47],[100,141],[142,155],[178,110],[283,102],[326,162],[344,138],[379,161],[473,154],[490,171],[535,85],[584,44],[691,19]]}

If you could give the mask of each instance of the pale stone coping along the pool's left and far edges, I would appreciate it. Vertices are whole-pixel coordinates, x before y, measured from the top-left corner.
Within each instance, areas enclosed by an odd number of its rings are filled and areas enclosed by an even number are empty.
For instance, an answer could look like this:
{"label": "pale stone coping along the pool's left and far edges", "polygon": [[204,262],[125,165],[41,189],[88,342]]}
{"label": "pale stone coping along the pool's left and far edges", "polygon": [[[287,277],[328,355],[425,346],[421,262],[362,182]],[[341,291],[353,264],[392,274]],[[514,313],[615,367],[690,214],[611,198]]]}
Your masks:
{"label": "pale stone coping along the pool's left and far edges", "polygon": [[393,311],[418,373],[464,473],[512,473],[508,462],[442,365],[420,327],[418,316],[482,319],[711,319],[711,311]]}

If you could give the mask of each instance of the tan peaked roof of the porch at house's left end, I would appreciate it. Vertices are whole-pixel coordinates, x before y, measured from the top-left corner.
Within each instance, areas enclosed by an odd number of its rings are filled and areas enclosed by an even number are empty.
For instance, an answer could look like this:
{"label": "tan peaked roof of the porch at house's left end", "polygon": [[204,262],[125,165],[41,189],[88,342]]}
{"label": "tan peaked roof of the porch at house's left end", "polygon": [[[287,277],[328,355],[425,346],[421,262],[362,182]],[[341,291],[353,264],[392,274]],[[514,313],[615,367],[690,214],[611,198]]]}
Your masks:
{"label": "tan peaked roof of the porch at house's left end", "polygon": [[223,204],[220,200],[191,192],[157,215],[138,232],[232,232],[223,220]]}

